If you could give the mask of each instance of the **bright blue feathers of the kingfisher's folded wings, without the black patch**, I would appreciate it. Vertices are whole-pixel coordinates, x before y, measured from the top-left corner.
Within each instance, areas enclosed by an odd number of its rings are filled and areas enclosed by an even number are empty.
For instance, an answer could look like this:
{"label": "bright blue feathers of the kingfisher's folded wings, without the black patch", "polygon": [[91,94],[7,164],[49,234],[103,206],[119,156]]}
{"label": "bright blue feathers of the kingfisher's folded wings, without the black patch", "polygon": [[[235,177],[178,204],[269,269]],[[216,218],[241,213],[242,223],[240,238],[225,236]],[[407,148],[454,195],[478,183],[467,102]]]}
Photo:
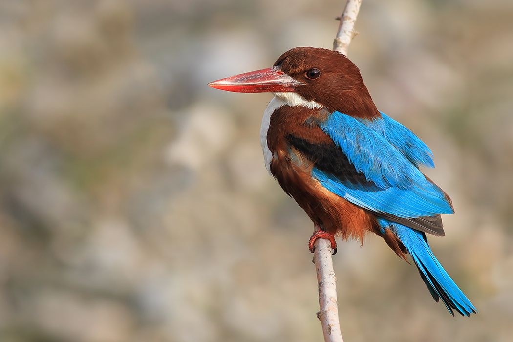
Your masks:
{"label": "bright blue feathers of the kingfisher's folded wings, without the black patch", "polygon": [[383,115],[365,122],[339,112],[319,123],[358,173],[373,187],[362,188],[316,166],[312,176],[329,191],[384,217],[411,219],[451,214],[450,199],[419,171],[433,166],[431,151],[411,131]]}

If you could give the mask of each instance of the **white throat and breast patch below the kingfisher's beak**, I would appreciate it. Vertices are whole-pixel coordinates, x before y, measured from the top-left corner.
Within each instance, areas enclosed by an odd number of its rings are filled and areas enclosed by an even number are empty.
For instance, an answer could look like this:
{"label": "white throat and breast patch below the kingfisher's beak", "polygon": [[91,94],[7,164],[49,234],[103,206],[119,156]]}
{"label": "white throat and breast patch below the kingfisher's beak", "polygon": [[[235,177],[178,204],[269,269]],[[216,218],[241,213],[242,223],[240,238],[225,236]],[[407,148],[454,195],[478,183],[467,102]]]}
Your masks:
{"label": "white throat and breast patch below the kingfisher's beak", "polygon": [[270,175],[272,175],[272,153],[271,150],[269,150],[269,146],[267,146],[267,131],[269,130],[269,124],[271,122],[272,113],[284,105],[291,107],[302,106],[310,109],[324,107],[315,101],[308,101],[306,98],[296,93],[282,92],[272,94],[274,95],[274,97],[265,109],[264,117],[262,118],[262,127],[260,128],[260,144],[262,145],[262,151],[264,152],[265,168],[267,169],[267,172],[269,172]]}

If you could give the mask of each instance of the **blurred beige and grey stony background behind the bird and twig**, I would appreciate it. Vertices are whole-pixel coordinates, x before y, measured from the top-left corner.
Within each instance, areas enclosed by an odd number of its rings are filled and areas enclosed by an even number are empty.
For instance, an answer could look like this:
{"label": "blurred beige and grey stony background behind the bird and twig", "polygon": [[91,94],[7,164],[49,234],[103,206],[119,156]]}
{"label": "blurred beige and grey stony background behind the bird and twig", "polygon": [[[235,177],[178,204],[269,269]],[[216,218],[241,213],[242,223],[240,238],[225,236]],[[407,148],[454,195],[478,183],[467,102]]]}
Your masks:
{"label": "blurred beige and grey stony background behind the bird and twig", "polygon": [[[312,223],[263,164],[270,94],[345,0],[0,0],[0,340],[322,341]],[[435,155],[452,318],[377,236],[334,256],[343,336],[513,340],[513,3],[364,0],[349,57]],[[271,237],[272,236],[272,237]]]}

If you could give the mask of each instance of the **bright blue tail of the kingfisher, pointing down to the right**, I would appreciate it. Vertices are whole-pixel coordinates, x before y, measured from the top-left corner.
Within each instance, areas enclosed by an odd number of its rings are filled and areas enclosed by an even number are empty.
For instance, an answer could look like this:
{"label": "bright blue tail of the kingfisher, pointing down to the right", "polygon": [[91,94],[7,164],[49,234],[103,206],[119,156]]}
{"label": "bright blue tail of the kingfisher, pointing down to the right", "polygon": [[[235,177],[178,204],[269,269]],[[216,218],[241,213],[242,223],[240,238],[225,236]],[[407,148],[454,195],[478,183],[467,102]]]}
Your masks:
{"label": "bright blue tail of the kingfisher, pointing down to the right", "polygon": [[413,262],[417,265],[422,280],[424,280],[429,292],[437,302],[441,298],[445,307],[453,316],[454,310],[465,316],[477,313],[470,300],[458,288],[433,255],[424,232],[390,222],[384,218],[378,218],[378,222],[383,229],[391,229],[401,240]]}

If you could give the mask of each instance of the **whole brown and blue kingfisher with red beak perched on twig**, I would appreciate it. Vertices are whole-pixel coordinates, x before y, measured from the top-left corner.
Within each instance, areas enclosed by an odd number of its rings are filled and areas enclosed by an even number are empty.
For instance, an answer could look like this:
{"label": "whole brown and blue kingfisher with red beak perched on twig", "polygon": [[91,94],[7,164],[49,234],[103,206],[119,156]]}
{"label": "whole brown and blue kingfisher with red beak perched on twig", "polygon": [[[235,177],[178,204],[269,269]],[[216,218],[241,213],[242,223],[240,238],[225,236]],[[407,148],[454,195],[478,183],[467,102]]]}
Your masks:
{"label": "whole brown and blue kingfisher with red beak perched on twig", "polygon": [[[274,95],[262,119],[265,166],[310,217],[310,238],[382,237],[411,256],[433,299],[455,315],[475,306],[433,255],[426,233],[445,236],[450,197],[420,171],[435,167],[427,145],[380,112],[359,68],[344,54],[297,47],[271,68],[208,83],[220,90]],[[333,253],[333,254],[334,254]]]}

